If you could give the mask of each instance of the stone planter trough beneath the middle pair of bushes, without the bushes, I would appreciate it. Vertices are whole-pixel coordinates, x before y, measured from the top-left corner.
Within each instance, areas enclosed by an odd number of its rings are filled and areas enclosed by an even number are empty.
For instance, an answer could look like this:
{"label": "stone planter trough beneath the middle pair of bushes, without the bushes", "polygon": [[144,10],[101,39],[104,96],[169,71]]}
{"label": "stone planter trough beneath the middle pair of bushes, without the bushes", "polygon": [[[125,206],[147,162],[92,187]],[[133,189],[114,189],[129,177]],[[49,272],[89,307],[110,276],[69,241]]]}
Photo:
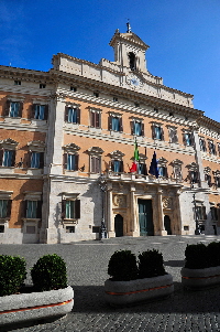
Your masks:
{"label": "stone planter trough beneath the middle pair of bushes, without the bushes", "polygon": [[105,282],[105,299],[112,306],[130,304],[158,297],[165,297],[174,291],[172,275],[131,281]]}

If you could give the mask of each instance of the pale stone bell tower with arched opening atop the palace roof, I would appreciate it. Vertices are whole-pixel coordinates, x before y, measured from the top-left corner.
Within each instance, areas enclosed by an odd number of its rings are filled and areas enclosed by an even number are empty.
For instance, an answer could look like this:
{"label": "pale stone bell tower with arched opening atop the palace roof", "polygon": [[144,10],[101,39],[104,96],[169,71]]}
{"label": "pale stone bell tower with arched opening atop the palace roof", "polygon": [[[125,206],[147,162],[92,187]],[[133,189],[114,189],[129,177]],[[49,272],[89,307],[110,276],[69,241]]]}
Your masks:
{"label": "pale stone bell tower with arched opening atop the palace roof", "polygon": [[129,22],[127,28],[125,33],[120,33],[117,29],[109,43],[114,50],[114,62],[124,69],[146,73],[145,53],[148,45],[131,31]]}

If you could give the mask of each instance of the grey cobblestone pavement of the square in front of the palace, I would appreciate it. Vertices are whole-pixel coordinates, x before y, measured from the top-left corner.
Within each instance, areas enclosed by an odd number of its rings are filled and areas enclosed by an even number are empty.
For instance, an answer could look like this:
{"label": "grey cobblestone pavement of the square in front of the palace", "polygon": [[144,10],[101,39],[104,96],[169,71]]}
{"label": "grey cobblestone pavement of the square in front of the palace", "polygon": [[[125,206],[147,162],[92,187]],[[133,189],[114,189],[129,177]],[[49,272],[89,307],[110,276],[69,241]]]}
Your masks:
{"label": "grey cobblestone pavement of the square in front of the palace", "polygon": [[[75,291],[73,311],[62,319],[40,321],[4,331],[18,332],[219,332],[220,287],[186,291],[180,285],[180,268],[187,244],[220,240],[220,236],[120,237],[62,245],[0,245],[0,254],[20,255],[28,269],[38,257],[56,253],[67,264],[68,283]],[[166,299],[128,308],[111,308],[103,299],[103,282],[111,255],[119,249],[133,253],[156,248],[163,253],[166,271],[174,277],[175,291]],[[30,271],[26,279],[31,283]],[[3,331],[3,330],[2,330]]]}

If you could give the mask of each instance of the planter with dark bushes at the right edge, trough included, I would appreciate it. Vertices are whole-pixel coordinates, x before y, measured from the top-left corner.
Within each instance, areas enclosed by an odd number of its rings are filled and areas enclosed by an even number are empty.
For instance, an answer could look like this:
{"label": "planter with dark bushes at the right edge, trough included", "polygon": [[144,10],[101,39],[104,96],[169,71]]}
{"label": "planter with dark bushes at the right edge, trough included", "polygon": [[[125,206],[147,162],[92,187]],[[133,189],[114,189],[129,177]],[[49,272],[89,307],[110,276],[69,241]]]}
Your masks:
{"label": "planter with dark bushes at the right edge, trough included", "polygon": [[220,283],[220,243],[187,245],[182,283],[190,289]]}

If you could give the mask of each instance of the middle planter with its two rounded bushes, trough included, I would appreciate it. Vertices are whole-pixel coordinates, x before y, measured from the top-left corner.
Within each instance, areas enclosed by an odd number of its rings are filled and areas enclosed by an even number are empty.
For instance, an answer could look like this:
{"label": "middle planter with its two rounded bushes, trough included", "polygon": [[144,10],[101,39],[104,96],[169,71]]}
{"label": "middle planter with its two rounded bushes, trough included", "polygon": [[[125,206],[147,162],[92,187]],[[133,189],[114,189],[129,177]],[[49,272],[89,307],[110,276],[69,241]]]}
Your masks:
{"label": "middle planter with its two rounded bushes, trough included", "polygon": [[123,306],[174,291],[173,277],[165,272],[163,256],[147,250],[136,257],[130,250],[116,251],[108,266],[110,279],[105,282],[105,298],[111,306]]}

